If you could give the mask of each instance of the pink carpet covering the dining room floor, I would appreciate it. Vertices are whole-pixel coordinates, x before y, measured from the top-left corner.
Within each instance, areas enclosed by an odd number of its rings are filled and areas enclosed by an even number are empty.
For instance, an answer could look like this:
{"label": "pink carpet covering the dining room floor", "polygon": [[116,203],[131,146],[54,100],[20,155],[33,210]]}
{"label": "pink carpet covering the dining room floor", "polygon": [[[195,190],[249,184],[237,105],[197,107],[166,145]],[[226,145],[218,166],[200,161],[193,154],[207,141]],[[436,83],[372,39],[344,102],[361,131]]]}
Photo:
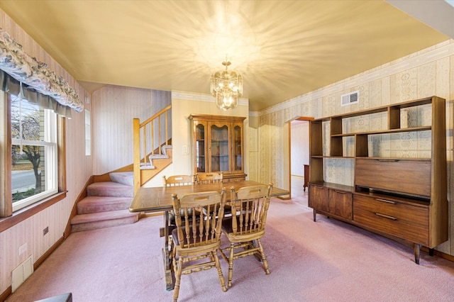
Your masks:
{"label": "pink carpet covering the dining room floor", "polygon": [[[454,262],[421,252],[417,265],[412,247],[325,216],[314,223],[306,205],[306,198],[272,198],[262,240],[270,275],[245,257],[234,262],[227,292],[210,269],[182,276],[179,301],[454,301]],[[73,233],[7,301],[66,292],[76,302],[171,301],[162,221]]]}

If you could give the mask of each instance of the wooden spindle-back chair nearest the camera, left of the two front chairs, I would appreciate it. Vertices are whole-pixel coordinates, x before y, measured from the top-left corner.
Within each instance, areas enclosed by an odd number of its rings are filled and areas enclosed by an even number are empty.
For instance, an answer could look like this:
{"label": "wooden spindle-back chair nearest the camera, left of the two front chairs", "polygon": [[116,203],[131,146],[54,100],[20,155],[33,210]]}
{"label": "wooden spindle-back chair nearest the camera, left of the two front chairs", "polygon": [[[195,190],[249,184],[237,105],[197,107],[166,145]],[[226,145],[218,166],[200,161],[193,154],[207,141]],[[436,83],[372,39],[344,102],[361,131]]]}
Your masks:
{"label": "wooden spindle-back chair nearest the camera, left of the two front chairs", "polygon": [[[187,194],[178,198],[172,195],[176,213],[177,228],[172,231],[175,245],[172,248],[174,259],[175,288],[173,301],[178,300],[179,284],[182,274],[191,274],[216,267],[222,291],[227,291],[217,252],[221,252],[221,226],[226,189]],[[208,208],[208,216],[201,211]],[[198,217],[197,217],[198,216]],[[202,261],[203,259],[203,261]]]}

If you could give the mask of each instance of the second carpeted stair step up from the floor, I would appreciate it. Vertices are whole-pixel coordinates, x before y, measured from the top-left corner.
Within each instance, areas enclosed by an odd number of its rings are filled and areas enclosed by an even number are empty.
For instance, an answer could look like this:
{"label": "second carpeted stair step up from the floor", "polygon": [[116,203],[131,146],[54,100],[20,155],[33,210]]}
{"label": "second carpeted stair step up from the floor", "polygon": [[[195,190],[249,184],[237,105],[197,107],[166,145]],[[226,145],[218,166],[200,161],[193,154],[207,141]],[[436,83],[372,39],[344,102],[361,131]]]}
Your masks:
{"label": "second carpeted stair step up from the floor", "polygon": [[127,210],[132,197],[87,196],[77,203],[78,214]]}

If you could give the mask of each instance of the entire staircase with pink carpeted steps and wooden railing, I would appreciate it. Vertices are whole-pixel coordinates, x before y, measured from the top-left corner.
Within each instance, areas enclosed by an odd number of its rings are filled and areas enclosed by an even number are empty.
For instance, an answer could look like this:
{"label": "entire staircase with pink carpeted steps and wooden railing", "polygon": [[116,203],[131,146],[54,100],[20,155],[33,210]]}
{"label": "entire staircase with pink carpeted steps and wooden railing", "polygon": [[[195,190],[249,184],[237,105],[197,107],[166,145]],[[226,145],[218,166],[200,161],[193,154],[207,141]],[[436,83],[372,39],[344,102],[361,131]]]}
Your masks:
{"label": "entire staircase with pink carpeted steps and wooden railing", "polygon": [[134,192],[172,163],[171,109],[169,105],[142,123],[133,119],[133,164],[117,170],[133,172],[98,175],[97,181],[87,186],[87,196],[77,202],[71,232],[138,221],[139,213],[129,212]]}

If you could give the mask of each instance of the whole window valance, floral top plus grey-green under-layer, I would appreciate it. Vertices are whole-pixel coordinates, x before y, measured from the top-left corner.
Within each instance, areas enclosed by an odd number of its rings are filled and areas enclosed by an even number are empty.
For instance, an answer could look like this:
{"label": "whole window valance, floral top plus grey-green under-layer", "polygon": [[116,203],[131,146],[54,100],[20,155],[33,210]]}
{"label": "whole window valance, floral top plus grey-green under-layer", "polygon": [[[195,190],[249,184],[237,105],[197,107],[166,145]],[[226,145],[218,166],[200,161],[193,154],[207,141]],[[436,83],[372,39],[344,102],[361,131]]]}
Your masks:
{"label": "whole window valance, floral top plus grey-green under-layer", "polygon": [[77,91],[65,79],[57,77],[45,63],[38,62],[35,57],[26,54],[22,50],[22,45],[12,40],[9,33],[1,28],[0,69],[4,71],[0,72],[0,88],[4,91],[18,92],[20,91],[18,82],[22,82],[23,96],[28,101],[51,108],[63,116],[67,116],[63,112],[70,110],[62,107],[73,108],[76,112],[84,110],[84,104],[79,100]]}

